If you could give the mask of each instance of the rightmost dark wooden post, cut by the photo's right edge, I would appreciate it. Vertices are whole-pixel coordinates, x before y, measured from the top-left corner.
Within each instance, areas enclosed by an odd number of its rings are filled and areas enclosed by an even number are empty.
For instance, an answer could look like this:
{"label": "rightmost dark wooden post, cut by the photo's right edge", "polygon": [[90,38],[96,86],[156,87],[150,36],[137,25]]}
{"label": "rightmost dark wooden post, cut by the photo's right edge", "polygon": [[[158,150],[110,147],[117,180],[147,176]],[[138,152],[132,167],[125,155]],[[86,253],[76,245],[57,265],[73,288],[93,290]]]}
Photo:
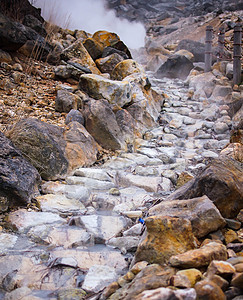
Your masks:
{"label": "rightmost dark wooden post, cut by the photo's right edge", "polygon": [[236,23],[234,27],[234,61],[233,61],[233,83],[241,83],[241,39],[242,24]]}

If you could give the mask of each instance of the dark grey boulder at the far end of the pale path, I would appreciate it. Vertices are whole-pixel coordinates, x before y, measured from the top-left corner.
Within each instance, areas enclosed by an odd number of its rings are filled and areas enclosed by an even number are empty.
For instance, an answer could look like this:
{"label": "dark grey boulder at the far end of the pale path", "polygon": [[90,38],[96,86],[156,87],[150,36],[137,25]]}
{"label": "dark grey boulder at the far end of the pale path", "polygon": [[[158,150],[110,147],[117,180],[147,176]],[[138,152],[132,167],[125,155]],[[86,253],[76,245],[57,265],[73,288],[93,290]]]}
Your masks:
{"label": "dark grey boulder at the far end of the pale path", "polygon": [[193,63],[184,55],[172,55],[167,61],[159,67],[156,77],[180,78],[186,79],[193,69]]}

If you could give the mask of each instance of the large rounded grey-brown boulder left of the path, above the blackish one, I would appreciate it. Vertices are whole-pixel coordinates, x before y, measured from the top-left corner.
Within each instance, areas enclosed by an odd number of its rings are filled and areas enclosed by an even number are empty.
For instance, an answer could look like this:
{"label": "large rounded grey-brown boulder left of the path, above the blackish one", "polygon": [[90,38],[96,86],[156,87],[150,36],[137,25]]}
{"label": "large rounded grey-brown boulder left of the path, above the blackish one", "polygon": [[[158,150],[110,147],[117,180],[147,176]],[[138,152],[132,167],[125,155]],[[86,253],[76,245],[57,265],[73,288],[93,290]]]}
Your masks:
{"label": "large rounded grey-brown boulder left of the path, above the blackish one", "polygon": [[8,137],[21,150],[45,180],[55,180],[67,172],[63,129],[37,119],[23,119],[8,132]]}

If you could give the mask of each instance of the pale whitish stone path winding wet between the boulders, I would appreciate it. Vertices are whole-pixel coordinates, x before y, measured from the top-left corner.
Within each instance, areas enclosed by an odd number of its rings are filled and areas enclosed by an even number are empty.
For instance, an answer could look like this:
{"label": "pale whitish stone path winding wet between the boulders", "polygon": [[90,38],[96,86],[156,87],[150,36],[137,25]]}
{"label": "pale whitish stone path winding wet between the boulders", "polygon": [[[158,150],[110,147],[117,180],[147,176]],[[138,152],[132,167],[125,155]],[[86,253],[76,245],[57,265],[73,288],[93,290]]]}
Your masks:
{"label": "pale whitish stone path winding wet between the boulders", "polygon": [[225,105],[194,99],[183,81],[148,76],[165,104],[158,127],[136,141],[136,153],[120,152],[63,182],[45,182],[35,205],[8,216],[10,231],[0,236],[0,282],[9,293],[0,292],[0,299],[101,291],[127,271],[148,208],[228,143]]}

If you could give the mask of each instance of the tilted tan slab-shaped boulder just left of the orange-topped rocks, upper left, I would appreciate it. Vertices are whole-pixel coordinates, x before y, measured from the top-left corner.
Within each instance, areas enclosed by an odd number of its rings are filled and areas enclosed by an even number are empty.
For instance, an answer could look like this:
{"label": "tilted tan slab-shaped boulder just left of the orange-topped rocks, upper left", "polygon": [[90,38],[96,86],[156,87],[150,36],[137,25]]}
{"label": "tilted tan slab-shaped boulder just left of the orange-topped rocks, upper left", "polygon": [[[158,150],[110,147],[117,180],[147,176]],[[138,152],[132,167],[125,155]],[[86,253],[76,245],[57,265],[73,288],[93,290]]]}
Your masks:
{"label": "tilted tan slab-shaped boulder just left of the orange-topped rocks, upper left", "polygon": [[61,58],[69,63],[76,63],[80,66],[89,68],[94,74],[100,74],[95,62],[81,40],[77,40],[72,45],[64,49],[61,53]]}

